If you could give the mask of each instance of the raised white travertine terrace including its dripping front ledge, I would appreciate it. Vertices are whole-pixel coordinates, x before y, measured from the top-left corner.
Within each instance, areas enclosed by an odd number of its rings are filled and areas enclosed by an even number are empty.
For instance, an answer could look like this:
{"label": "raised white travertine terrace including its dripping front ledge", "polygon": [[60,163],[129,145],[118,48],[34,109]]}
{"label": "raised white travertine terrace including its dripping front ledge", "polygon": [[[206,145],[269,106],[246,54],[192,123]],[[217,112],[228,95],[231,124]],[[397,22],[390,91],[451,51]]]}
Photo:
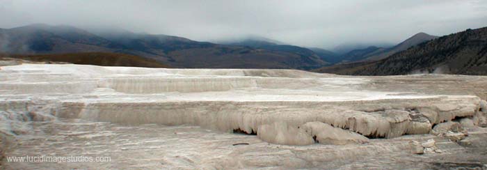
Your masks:
{"label": "raised white travertine terrace including its dripping front ledge", "polygon": [[[429,134],[433,126],[456,118],[474,125],[486,121],[485,99],[476,95],[443,93],[443,88],[454,88],[446,85],[430,93],[420,86],[395,89],[377,83],[388,79],[423,78],[299,70],[5,66],[0,70],[0,131],[29,134],[30,121],[63,118],[129,126],[194,125],[257,134],[273,144],[360,145],[369,142],[367,137]],[[440,76],[431,79],[443,81]],[[436,88],[435,83],[429,86]]]}

